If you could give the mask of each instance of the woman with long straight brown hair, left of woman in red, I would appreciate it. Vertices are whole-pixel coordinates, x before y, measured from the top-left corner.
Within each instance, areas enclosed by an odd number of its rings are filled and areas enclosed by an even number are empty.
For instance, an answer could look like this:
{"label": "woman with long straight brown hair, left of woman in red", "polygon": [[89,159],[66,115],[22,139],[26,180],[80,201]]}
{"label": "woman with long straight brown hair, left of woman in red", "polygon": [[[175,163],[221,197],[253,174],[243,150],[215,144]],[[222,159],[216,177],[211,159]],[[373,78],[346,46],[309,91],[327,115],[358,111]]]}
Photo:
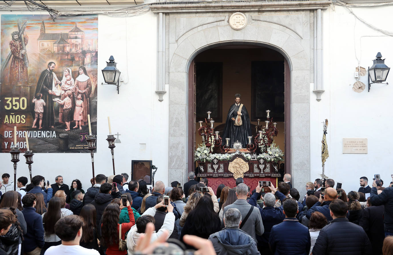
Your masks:
{"label": "woman with long straight brown hair, left of woman in red", "polygon": [[87,249],[94,249],[98,251],[97,226],[95,225],[95,207],[92,204],[86,204],[82,207],[79,217],[83,219],[82,238],[80,246]]}

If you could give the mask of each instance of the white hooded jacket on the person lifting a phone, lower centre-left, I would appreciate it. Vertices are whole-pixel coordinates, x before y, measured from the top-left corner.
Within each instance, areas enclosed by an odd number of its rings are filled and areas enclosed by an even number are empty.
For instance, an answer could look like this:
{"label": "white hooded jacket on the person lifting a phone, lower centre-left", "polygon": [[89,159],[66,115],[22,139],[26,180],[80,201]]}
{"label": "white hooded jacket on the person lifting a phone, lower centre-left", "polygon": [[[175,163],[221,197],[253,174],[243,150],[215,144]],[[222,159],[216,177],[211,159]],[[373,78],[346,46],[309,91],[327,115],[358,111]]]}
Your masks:
{"label": "white hooded jacket on the person lifting a phone, lower centre-left", "polygon": [[[151,207],[151,208],[147,209],[145,211],[145,213],[142,214],[142,216],[143,215],[151,215],[154,217],[154,215],[156,215],[156,211],[157,210],[155,207]],[[160,228],[160,230],[158,230],[157,232],[156,231],[153,232],[151,239],[150,239],[150,243],[152,243],[156,239],[158,239],[158,237],[160,237],[163,234],[164,229],[166,229],[169,232],[169,235],[171,235],[173,232],[173,228],[174,228],[174,214],[168,212],[167,215],[165,215],[164,223],[162,224],[162,227]],[[135,224],[134,226],[131,227],[130,231],[127,234],[128,255],[134,254],[133,253],[134,247],[136,246],[136,242],[138,242],[138,239],[141,235],[137,231],[138,231],[138,229],[136,229],[136,224]]]}

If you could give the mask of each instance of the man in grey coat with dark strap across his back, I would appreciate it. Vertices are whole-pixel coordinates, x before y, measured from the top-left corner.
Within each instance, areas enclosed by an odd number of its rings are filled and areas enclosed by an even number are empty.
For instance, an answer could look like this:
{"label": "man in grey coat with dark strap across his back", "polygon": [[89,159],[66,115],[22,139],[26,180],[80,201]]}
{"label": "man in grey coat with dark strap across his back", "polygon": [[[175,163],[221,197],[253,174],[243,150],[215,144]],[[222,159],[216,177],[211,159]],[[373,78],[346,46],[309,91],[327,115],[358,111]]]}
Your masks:
{"label": "man in grey coat with dark strap across his back", "polygon": [[[237,200],[228,206],[225,206],[223,214],[230,208],[236,208],[240,211],[242,215],[242,224],[239,227],[248,235],[252,236],[256,241],[257,235],[262,235],[264,232],[264,227],[262,224],[261,213],[256,206],[248,204],[248,187],[246,184],[241,183],[236,187]],[[224,222],[221,222],[222,227],[224,227]]]}

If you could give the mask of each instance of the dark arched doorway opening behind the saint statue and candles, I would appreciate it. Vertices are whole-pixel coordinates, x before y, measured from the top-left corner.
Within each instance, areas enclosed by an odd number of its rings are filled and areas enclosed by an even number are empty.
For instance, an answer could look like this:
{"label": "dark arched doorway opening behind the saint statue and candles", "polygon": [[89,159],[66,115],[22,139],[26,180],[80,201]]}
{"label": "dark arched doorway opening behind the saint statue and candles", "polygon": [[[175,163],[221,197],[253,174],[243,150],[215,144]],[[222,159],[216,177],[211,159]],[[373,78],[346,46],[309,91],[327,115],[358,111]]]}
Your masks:
{"label": "dark arched doorway opening behind the saint statue and candles", "polygon": [[[285,172],[290,168],[290,69],[285,57],[274,49],[255,44],[225,44],[200,51],[188,71],[188,171],[194,171],[195,148],[202,143],[198,121],[211,111],[215,131],[224,129],[234,95],[242,95],[254,136],[257,119],[266,110],[277,122],[275,143],[285,153]],[[244,146],[245,147],[245,146]]]}

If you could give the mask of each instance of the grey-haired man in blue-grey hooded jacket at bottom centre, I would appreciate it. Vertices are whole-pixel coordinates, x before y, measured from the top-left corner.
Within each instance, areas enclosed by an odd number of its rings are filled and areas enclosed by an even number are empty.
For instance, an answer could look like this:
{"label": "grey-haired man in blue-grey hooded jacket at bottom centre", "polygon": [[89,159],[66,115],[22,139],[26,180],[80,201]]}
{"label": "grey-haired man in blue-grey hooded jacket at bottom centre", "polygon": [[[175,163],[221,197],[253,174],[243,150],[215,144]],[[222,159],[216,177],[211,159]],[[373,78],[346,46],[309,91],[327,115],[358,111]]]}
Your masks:
{"label": "grey-haired man in blue-grey hooded jacket at bottom centre", "polygon": [[239,229],[242,224],[242,215],[238,209],[229,208],[226,210],[223,220],[225,228],[209,237],[217,255],[260,254],[255,240]]}

